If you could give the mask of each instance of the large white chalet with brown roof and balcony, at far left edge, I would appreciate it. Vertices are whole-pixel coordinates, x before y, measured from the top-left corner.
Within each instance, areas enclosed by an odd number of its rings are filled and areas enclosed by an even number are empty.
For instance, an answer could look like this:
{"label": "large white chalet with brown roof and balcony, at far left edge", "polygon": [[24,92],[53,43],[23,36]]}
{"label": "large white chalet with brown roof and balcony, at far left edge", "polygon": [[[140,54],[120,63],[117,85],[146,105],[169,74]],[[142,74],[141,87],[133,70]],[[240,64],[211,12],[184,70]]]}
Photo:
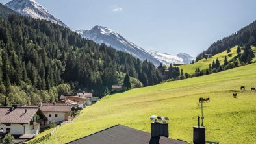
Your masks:
{"label": "large white chalet with brown roof and balcony, at far left edge", "polygon": [[0,107],[0,136],[10,133],[20,138],[33,138],[40,126],[47,126],[47,117],[38,106]]}

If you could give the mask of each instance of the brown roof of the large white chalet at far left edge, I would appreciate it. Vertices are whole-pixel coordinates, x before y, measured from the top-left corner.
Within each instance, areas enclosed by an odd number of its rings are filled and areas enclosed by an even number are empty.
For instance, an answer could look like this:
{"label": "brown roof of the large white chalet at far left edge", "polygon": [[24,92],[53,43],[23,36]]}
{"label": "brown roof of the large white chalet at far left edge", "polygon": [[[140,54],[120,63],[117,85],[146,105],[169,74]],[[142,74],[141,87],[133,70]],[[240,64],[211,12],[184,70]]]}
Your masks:
{"label": "brown roof of the large white chalet at far left edge", "polygon": [[0,107],[0,123],[29,123],[36,112],[36,107]]}

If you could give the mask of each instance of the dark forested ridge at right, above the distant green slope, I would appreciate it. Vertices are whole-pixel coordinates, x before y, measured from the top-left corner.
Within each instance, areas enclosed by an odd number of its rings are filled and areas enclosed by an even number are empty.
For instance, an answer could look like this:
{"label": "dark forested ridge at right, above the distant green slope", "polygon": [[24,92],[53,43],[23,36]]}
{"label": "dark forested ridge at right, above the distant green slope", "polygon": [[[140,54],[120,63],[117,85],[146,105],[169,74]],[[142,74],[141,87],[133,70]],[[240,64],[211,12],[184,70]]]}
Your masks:
{"label": "dark forested ridge at right, above the distant green slope", "polygon": [[253,21],[250,25],[239,30],[235,34],[231,34],[229,37],[225,37],[222,40],[218,40],[213,43],[206,51],[203,51],[196,57],[196,62],[205,58],[205,54],[218,54],[226,49],[235,47],[236,45],[252,45],[256,40],[256,21]]}

